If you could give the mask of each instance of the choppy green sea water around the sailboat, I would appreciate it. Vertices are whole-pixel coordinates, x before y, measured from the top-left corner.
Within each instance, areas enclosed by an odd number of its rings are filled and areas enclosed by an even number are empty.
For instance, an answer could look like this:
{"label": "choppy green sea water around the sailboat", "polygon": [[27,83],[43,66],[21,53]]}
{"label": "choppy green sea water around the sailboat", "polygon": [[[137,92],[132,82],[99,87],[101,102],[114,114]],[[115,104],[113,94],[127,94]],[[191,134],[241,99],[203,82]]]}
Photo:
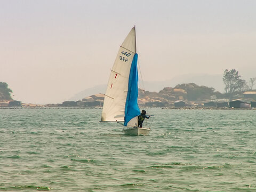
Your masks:
{"label": "choppy green sea water around the sailboat", "polygon": [[133,137],[101,109],[0,109],[0,191],[256,191],[256,110],[147,113]]}

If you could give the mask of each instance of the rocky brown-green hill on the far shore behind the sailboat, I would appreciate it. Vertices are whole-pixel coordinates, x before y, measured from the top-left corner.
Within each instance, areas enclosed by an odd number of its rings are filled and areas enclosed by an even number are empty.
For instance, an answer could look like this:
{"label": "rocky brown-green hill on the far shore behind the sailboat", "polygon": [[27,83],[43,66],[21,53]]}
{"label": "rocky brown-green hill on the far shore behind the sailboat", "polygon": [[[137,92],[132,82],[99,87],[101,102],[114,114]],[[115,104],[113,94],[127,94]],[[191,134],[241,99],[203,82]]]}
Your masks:
{"label": "rocky brown-green hill on the far shore behind the sailboat", "polygon": [[[82,101],[65,101],[65,107],[102,107],[104,94],[93,94]],[[182,101],[186,105],[203,105],[211,98],[222,99],[223,94],[212,87],[198,86],[195,83],[178,84],[175,87],[165,87],[159,92],[139,89],[138,105],[145,107],[170,107],[174,102]]]}

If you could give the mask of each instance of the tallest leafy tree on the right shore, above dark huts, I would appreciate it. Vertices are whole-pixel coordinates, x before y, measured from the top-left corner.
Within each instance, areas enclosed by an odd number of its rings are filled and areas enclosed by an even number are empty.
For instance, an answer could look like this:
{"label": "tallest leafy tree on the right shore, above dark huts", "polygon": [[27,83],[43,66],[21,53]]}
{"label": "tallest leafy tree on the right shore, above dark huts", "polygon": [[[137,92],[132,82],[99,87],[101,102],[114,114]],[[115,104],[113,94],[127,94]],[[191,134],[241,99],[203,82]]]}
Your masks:
{"label": "tallest leafy tree on the right shore, above dark huts", "polygon": [[233,94],[245,91],[248,89],[247,83],[245,80],[241,79],[241,75],[238,75],[238,71],[236,69],[228,70],[226,69],[223,74],[223,82],[225,84],[225,92],[230,97]]}

